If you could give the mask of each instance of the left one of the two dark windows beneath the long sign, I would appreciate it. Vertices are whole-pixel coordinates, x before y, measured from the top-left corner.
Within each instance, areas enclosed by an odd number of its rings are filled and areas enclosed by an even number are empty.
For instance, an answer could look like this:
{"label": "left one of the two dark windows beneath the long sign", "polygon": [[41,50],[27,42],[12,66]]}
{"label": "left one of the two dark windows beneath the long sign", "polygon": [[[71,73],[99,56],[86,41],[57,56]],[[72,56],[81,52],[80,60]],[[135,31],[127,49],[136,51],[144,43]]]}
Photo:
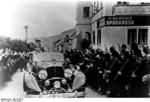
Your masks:
{"label": "left one of the two dark windows beneath the long sign", "polygon": [[137,43],[137,30],[128,29],[128,44]]}

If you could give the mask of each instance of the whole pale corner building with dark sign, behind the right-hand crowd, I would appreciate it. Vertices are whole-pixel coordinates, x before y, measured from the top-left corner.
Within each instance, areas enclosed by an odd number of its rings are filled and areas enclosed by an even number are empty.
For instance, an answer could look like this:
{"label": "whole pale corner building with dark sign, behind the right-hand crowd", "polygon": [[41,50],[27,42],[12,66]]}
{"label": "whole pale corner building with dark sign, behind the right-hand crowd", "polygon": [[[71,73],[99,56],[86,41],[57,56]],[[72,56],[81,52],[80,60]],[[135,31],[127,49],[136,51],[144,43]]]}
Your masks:
{"label": "whole pale corner building with dark sign, behind the right-hand crowd", "polygon": [[88,34],[102,49],[133,42],[150,46],[150,3],[78,2],[76,16],[80,36]]}

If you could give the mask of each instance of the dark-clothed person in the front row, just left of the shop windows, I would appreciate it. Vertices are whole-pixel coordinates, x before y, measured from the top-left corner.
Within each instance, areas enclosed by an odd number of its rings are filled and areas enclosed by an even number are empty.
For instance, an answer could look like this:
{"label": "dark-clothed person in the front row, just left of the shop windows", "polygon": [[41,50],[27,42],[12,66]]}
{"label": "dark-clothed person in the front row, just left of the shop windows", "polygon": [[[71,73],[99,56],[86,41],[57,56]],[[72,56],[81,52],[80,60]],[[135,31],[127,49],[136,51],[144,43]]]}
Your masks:
{"label": "dark-clothed person in the front row, just left of the shop windows", "polygon": [[124,63],[123,59],[119,55],[119,53],[115,50],[114,47],[110,48],[111,56],[112,56],[112,64],[111,64],[111,73],[110,73],[110,94],[109,97],[126,97],[127,93],[125,90],[124,84],[122,84],[120,72]]}

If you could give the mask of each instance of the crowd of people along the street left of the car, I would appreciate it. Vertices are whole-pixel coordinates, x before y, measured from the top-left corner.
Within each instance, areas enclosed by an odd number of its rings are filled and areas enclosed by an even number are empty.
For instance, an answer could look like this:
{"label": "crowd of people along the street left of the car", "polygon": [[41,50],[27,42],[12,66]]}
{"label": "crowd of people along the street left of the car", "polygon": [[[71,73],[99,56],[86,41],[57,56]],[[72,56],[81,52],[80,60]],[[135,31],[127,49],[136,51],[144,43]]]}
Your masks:
{"label": "crowd of people along the street left of the car", "polygon": [[0,85],[1,88],[11,80],[18,70],[23,71],[30,60],[29,52],[13,51],[8,48],[0,50]]}

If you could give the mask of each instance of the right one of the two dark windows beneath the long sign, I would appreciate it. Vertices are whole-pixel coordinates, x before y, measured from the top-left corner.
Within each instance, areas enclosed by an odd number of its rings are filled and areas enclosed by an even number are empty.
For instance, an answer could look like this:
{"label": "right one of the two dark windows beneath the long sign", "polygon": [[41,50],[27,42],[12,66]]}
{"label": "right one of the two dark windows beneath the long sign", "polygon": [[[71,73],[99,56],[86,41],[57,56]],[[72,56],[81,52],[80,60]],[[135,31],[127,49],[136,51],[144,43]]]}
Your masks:
{"label": "right one of the two dark windows beneath the long sign", "polygon": [[138,44],[147,45],[148,29],[138,30]]}

